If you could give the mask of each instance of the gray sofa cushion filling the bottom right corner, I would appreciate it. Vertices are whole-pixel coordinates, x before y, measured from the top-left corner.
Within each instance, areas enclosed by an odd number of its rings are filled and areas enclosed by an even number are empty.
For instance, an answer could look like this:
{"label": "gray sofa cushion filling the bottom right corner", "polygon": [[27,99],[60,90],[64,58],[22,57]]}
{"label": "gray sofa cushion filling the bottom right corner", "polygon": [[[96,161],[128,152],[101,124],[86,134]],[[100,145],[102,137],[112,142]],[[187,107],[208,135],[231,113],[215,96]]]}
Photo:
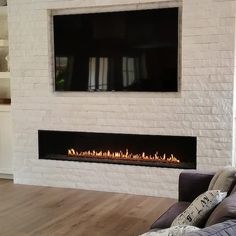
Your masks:
{"label": "gray sofa cushion filling the bottom right corner", "polygon": [[204,229],[186,233],[184,236],[234,236],[236,235],[236,221],[228,220]]}

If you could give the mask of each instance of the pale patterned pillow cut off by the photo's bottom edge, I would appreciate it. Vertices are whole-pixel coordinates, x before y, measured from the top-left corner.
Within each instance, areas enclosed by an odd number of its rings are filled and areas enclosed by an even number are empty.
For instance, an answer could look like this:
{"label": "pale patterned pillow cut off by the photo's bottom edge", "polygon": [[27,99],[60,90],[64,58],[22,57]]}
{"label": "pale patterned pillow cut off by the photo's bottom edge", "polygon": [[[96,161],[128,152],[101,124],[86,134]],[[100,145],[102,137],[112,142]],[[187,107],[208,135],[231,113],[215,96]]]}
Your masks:
{"label": "pale patterned pillow cut off by the photo's bottom edge", "polygon": [[186,233],[190,233],[196,230],[199,230],[199,228],[191,225],[178,225],[157,231],[152,230],[140,236],[183,236]]}

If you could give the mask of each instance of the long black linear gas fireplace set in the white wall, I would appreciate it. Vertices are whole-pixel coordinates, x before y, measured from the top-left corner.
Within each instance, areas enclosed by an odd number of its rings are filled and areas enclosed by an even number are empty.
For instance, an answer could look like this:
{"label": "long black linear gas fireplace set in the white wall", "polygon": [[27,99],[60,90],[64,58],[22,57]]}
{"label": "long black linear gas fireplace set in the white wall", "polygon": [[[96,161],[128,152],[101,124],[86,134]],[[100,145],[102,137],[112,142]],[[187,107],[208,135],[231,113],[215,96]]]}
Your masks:
{"label": "long black linear gas fireplace set in the white wall", "polygon": [[38,131],[39,159],[196,168],[196,137]]}

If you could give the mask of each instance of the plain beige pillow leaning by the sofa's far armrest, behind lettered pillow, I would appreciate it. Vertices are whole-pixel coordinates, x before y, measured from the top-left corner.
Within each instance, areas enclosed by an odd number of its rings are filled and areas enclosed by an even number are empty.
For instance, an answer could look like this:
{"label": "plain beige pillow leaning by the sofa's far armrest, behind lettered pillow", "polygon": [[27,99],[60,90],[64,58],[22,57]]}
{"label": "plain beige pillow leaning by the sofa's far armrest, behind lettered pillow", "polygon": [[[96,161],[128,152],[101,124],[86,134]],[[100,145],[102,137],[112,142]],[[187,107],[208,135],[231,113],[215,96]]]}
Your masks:
{"label": "plain beige pillow leaning by the sofa's far armrest, behind lettered pillow", "polygon": [[228,192],[233,182],[235,181],[236,168],[226,167],[214,175],[212,178],[208,190],[221,190],[222,192]]}

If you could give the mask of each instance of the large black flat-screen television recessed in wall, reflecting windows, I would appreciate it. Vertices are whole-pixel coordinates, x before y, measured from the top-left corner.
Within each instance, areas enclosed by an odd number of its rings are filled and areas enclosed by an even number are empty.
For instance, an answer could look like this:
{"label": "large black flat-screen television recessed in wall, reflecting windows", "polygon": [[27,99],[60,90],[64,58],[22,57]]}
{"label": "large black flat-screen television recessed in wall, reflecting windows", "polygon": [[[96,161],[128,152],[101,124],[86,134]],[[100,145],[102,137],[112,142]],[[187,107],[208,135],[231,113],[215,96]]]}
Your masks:
{"label": "large black flat-screen television recessed in wall, reflecting windows", "polygon": [[56,91],[178,91],[178,8],[53,17]]}

